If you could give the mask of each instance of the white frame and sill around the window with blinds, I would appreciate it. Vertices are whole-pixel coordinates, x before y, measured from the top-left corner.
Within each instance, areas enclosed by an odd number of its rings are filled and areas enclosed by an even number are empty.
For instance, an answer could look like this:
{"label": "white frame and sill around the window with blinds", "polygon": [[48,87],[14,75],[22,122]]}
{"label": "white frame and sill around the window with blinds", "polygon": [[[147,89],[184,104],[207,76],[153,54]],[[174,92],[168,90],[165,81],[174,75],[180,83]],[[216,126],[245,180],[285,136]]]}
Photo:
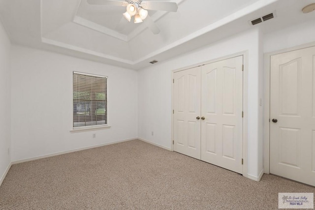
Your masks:
{"label": "white frame and sill around the window with blinds", "polygon": [[[106,124],[97,124],[97,125],[85,125],[85,126],[74,126],[74,75],[79,74],[79,75],[84,75],[84,76],[91,76],[91,77],[99,77],[99,78],[105,78],[105,112],[106,112]],[[108,123],[108,76],[102,76],[102,75],[96,75],[96,74],[90,74],[90,73],[83,73],[83,72],[77,72],[73,71],[72,72],[72,130],[71,131],[80,131],[80,130],[89,130],[89,129],[101,129],[101,128],[109,128],[110,125]]]}

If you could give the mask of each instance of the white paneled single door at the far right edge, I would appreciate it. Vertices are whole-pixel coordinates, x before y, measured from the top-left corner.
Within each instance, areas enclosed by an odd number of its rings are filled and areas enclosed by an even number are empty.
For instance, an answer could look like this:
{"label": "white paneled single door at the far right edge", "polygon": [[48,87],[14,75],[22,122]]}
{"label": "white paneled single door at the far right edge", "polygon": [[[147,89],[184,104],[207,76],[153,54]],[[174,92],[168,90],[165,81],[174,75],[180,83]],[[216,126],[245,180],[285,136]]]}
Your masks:
{"label": "white paneled single door at the far right edge", "polygon": [[315,47],[271,57],[270,173],[315,186]]}

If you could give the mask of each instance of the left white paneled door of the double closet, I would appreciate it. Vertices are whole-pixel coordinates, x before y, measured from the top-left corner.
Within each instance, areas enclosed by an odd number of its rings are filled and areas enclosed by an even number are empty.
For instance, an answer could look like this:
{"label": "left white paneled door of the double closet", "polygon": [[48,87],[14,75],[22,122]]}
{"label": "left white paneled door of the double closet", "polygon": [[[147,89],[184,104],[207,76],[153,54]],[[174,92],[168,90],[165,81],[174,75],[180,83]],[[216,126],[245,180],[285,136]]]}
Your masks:
{"label": "left white paneled door of the double closet", "polygon": [[200,159],[200,67],[174,73],[174,150]]}

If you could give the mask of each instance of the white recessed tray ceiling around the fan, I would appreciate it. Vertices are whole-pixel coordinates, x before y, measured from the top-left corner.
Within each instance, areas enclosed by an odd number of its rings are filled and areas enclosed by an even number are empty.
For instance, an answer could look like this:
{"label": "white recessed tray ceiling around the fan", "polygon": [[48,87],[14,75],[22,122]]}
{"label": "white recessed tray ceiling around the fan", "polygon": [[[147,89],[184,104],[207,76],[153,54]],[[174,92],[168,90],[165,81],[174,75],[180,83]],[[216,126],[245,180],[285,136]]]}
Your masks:
{"label": "white recessed tray ceiling around the fan", "polygon": [[[257,27],[248,21],[273,11],[277,18],[261,24],[263,30],[315,19],[300,11],[314,0],[171,1],[177,12],[149,11],[161,30],[157,35],[145,23],[127,22],[126,7],[87,0],[0,0],[0,17],[13,43],[134,69]],[[122,31],[116,30],[120,22]]]}

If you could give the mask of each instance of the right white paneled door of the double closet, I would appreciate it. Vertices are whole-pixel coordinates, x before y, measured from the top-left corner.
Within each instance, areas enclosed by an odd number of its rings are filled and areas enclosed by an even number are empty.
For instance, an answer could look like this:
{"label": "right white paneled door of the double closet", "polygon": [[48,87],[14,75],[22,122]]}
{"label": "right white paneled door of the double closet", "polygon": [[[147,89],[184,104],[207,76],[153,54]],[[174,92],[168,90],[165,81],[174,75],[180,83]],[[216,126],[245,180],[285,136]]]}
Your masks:
{"label": "right white paneled door of the double closet", "polygon": [[201,69],[201,160],[242,174],[243,56]]}

